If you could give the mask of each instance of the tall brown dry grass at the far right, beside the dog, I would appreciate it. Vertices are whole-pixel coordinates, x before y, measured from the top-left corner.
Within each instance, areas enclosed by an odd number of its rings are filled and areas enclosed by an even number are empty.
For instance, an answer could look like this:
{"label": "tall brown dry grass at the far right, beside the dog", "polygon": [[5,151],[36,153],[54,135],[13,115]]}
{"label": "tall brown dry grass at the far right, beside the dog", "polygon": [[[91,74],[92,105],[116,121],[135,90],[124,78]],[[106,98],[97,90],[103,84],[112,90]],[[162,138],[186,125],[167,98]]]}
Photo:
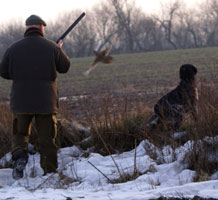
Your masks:
{"label": "tall brown dry grass at the far right, beside the dog", "polygon": [[[186,124],[188,137],[194,141],[190,149],[189,167],[197,172],[196,181],[209,178],[217,171],[218,163],[211,159],[218,151],[218,91],[217,84],[200,84],[198,121]],[[209,141],[205,137],[211,138]]]}

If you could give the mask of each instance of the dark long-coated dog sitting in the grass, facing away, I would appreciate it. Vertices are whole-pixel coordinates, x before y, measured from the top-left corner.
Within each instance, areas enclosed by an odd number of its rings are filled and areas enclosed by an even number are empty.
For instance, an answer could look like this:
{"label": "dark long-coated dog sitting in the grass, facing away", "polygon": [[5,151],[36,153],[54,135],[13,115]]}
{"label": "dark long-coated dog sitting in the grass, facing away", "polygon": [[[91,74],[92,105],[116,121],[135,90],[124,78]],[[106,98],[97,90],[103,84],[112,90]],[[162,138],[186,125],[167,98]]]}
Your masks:
{"label": "dark long-coated dog sitting in the grass, facing away", "polygon": [[179,73],[181,79],[179,85],[155,104],[154,114],[147,122],[148,127],[171,122],[176,130],[180,127],[184,114],[188,112],[197,119],[198,90],[195,81],[197,68],[191,64],[184,64],[180,67]]}

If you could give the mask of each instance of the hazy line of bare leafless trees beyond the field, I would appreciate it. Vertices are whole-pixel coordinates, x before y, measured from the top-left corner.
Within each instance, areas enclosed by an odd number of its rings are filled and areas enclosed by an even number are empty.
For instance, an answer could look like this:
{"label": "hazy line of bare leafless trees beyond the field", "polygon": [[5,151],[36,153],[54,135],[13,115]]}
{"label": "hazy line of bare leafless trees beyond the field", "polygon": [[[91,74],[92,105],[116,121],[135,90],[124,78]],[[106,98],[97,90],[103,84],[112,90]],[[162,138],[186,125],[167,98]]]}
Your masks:
{"label": "hazy line of bare leafless trees beyond the field", "polygon": [[[56,41],[82,11],[61,13],[47,22],[46,37]],[[23,22],[1,26],[0,57],[13,42],[23,38]],[[112,53],[136,53],[218,45],[218,1],[205,0],[187,8],[183,0],[146,14],[133,0],[104,0],[86,12],[86,17],[65,38],[70,57],[93,55],[112,45]]]}

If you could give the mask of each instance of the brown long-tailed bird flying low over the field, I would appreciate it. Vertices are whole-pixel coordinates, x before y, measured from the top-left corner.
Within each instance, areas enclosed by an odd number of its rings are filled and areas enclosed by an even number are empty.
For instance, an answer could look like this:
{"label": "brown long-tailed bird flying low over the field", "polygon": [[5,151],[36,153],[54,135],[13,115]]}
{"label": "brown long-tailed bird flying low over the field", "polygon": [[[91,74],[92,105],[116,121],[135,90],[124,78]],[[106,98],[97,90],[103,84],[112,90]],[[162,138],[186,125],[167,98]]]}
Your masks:
{"label": "brown long-tailed bird flying low over the field", "polygon": [[112,63],[112,62],[113,62],[113,57],[109,55],[111,48],[112,48],[112,45],[111,45],[110,47],[107,47],[107,48],[106,48],[105,50],[103,50],[103,51],[99,51],[99,52],[93,51],[94,54],[95,54],[95,60],[94,60],[94,62],[92,63],[92,66],[91,66],[87,71],[85,71],[83,74],[84,74],[85,76],[88,76],[89,73],[90,73],[92,70],[94,70],[94,69],[97,67],[98,63],[100,63],[100,62],[101,62],[101,63],[104,63],[104,64],[110,64],[110,63]]}

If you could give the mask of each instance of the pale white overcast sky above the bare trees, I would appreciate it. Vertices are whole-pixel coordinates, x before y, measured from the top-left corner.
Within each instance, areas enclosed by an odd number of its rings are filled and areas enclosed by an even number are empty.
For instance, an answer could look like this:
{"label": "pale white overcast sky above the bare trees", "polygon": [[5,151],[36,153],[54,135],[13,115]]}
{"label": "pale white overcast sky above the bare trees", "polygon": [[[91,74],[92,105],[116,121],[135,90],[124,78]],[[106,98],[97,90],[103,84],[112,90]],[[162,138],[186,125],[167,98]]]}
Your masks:
{"label": "pale white overcast sky above the bare trees", "polygon": [[[11,20],[25,20],[31,14],[37,14],[44,20],[55,18],[59,13],[76,8],[86,11],[104,0],[1,0],[0,23]],[[135,0],[147,13],[157,12],[160,4],[173,0]],[[183,0],[191,7],[204,0]]]}

